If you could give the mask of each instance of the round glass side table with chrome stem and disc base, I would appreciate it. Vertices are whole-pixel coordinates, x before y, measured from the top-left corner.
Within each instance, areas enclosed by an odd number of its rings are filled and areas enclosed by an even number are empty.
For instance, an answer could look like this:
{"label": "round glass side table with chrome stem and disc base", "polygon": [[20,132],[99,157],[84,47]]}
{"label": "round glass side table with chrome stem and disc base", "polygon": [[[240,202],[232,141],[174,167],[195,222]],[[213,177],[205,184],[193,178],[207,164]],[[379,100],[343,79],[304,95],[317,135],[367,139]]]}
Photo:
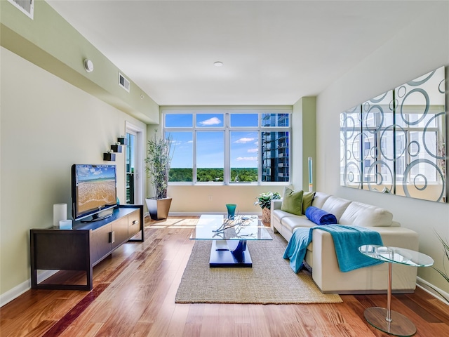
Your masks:
{"label": "round glass side table with chrome stem and disc base", "polygon": [[373,307],[365,310],[365,319],[375,328],[396,336],[412,336],[416,326],[406,316],[391,310],[391,272],[393,263],[412,267],[429,267],[434,260],[419,251],[368,244],[358,247],[363,255],[388,263],[387,308]]}

